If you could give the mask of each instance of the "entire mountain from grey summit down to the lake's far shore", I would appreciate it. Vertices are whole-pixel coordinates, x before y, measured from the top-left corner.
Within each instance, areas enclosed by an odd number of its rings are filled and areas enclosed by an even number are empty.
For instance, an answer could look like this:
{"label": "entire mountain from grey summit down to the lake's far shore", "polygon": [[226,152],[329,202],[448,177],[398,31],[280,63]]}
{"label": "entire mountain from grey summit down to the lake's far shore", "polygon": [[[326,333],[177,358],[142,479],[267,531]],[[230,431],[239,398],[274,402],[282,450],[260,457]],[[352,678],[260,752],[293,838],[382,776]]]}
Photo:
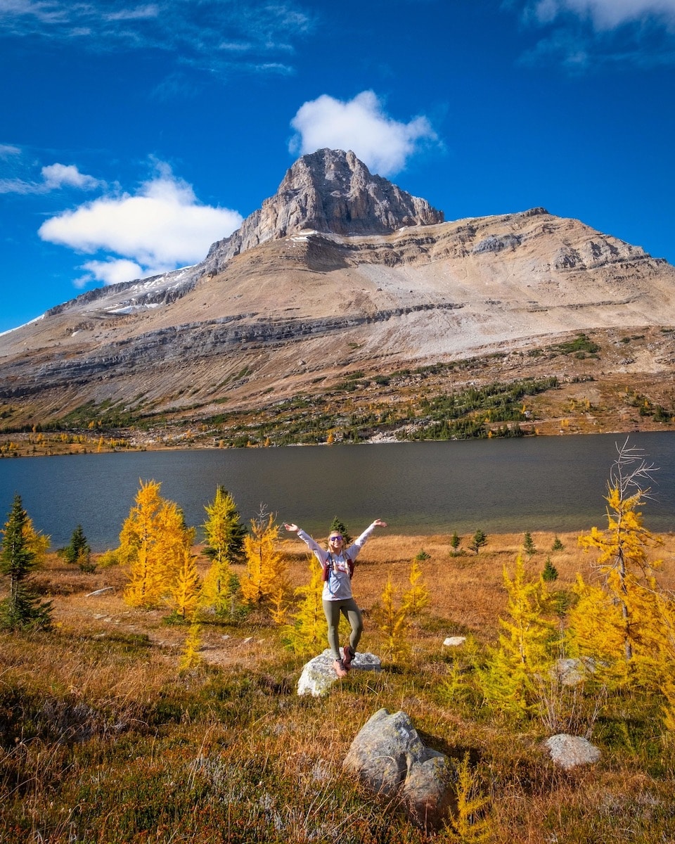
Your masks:
{"label": "entire mountain from grey summit down to the lake's far shore", "polygon": [[[322,441],[326,426],[363,439],[372,419],[416,436],[434,391],[545,376],[559,389],[538,430],[633,430],[661,408],[656,429],[675,424],[673,372],[667,262],[539,207],[443,222],[354,153],[321,149],[194,267],[89,290],[0,336],[0,419],[159,426],[147,442],[169,420],[211,444]],[[254,436],[247,414],[274,420],[284,402],[290,432]]]}

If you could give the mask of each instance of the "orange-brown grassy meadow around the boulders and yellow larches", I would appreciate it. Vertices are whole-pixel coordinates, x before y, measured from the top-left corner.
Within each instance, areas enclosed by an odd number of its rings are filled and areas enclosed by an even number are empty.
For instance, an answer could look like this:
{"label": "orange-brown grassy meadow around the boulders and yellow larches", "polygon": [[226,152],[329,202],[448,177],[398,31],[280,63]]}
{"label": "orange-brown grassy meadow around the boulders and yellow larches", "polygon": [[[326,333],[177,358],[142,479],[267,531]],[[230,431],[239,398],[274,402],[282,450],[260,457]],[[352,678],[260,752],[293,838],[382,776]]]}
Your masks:
{"label": "orange-brown grassy meadow around the boulders and yellow larches", "polygon": [[[525,559],[535,576],[550,556],[550,587],[564,596],[577,571],[591,579],[593,554],[574,533],[552,550],[555,538],[533,532]],[[663,539],[659,582],[675,589],[675,534]],[[443,641],[497,641],[502,571],[513,571],[523,535],[490,535],[478,555],[470,537],[454,555],[450,540],[386,530],[370,539],[354,576],[366,610],[359,649],[381,655],[383,670],[352,672],[321,699],[295,693],[306,657],[284,647],[266,611],[204,623],[201,662],[180,672],[186,625],[129,608],[119,567],[88,574],[50,555],[34,582],[51,598],[53,629],[0,634],[0,841],[675,841],[675,740],[655,701],[604,701],[587,722],[601,760],[565,772],[543,750],[545,719],[513,723],[458,693],[465,651]],[[280,548],[294,586],[308,582],[303,544],[284,538]],[[411,655],[387,656],[371,610],[388,578],[408,587],[416,557],[429,606],[409,630]],[[343,774],[349,744],[383,706],[406,711],[424,742],[458,763],[468,755],[482,826],[428,836]]]}

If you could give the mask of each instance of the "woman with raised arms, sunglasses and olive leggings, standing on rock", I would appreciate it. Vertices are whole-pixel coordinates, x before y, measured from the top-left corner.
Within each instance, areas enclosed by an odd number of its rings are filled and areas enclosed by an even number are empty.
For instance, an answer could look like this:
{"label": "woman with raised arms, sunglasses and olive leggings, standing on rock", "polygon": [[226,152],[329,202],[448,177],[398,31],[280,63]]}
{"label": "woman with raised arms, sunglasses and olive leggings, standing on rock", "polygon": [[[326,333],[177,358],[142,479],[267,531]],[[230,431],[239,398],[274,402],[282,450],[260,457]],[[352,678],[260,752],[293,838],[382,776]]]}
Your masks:
{"label": "woman with raised arms, sunglasses and olive leggings, standing on rock", "polygon": [[[343,535],[339,531],[331,531],[328,537],[327,550],[322,549],[309,533],[305,533],[296,524],[284,523],[284,527],[291,533],[297,533],[321,563],[324,580],[321,601],[328,622],[328,645],[332,652],[333,668],[335,668],[338,677],[346,677],[364,629],[361,610],[354,601],[352,594],[354,560],[375,527],[386,527],[386,522],[375,519],[375,522],[366,527],[365,531],[348,548],[344,547]],[[348,620],[351,628],[349,644],[345,645],[342,651],[340,651],[338,635],[341,613]]]}

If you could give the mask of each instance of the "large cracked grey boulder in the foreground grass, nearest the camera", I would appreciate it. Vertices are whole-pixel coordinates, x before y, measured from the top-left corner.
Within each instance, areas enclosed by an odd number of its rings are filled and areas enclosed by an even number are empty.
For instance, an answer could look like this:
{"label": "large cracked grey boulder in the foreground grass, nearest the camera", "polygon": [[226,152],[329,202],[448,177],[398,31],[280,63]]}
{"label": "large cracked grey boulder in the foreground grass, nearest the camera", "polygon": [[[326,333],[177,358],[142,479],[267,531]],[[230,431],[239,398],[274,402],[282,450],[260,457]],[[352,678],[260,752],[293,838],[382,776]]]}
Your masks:
{"label": "large cracked grey boulder in the foreground grass, nearest the camera", "polygon": [[425,829],[437,829],[455,800],[451,760],[425,747],[402,711],[376,711],[354,738],[343,769],[359,776],[371,792],[400,800],[410,819]]}

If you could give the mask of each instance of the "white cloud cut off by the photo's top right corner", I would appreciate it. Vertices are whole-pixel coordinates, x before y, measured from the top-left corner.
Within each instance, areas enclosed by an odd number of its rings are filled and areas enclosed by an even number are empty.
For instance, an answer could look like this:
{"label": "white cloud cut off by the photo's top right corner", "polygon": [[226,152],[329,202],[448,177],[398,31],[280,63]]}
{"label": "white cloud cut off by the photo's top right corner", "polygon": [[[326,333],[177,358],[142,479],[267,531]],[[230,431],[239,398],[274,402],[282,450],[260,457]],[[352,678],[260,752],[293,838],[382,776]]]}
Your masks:
{"label": "white cloud cut off by the photo's top right corner", "polygon": [[539,0],[534,12],[541,23],[572,12],[590,18],[597,30],[611,30],[650,17],[675,22],[675,0]]}

